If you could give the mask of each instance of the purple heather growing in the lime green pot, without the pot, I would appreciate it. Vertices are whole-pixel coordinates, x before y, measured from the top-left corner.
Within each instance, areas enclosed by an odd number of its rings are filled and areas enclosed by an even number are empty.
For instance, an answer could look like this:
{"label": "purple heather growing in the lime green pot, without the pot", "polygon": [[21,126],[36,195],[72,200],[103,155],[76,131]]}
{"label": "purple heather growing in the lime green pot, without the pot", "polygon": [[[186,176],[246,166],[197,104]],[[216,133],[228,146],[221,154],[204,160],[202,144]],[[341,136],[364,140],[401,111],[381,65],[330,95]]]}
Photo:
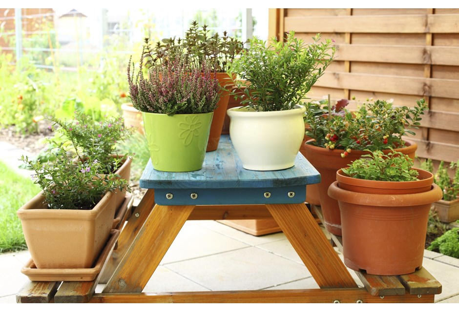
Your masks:
{"label": "purple heather growing in the lime green pot, without the pot", "polygon": [[[144,46],[137,75],[131,61],[127,66],[129,97],[141,112],[167,114],[201,114],[213,112],[219,100],[220,85],[215,71],[205,61],[203,71],[191,66],[187,56],[179,53],[173,61],[156,64],[143,74]],[[133,65],[134,67],[134,65]]]}

